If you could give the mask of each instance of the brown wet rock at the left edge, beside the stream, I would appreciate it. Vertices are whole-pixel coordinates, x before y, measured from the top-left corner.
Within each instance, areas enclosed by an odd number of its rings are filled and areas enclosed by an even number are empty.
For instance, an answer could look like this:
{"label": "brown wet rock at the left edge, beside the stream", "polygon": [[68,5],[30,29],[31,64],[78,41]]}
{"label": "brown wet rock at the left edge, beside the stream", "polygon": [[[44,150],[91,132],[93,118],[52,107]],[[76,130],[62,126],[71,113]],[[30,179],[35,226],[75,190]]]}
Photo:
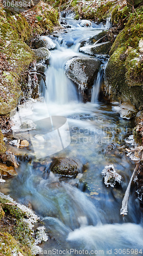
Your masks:
{"label": "brown wet rock at the left edge, beside the stream", "polygon": [[6,151],[4,154],[0,155],[3,163],[6,163],[8,166],[18,167],[18,162],[15,159],[15,156],[10,151]]}

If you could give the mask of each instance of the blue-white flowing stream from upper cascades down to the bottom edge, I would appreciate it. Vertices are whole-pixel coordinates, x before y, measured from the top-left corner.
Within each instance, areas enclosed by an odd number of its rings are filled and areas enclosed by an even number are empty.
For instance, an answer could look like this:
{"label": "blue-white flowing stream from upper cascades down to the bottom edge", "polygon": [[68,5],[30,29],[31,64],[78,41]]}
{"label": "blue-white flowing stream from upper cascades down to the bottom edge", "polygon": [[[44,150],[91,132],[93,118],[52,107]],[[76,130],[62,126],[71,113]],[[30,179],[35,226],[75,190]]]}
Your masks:
{"label": "blue-white flowing stream from upper cascades down to the bottom edge", "polygon": [[[71,143],[63,151],[40,160],[34,157],[32,146],[28,150],[18,150],[9,145],[20,164],[18,175],[0,184],[1,191],[22,204],[30,203],[40,216],[49,232],[48,241],[41,245],[46,255],[141,255],[142,212],[133,184],[128,215],[120,215],[135,167],[125,153],[133,123],[120,118],[114,111],[118,103],[98,101],[104,56],[99,56],[102,66],[93,84],[92,102],[81,102],[78,88],[64,72],[70,58],[83,56],[78,51],[81,39],[98,34],[105,27],[93,24],[91,28],[84,28],[79,21],[65,20],[71,28],[67,33],[59,33],[55,40],[56,50],[51,51],[50,66],[45,72],[45,103],[37,101],[33,113],[41,119],[46,115],[65,116]],[[28,104],[22,111],[31,114],[31,118],[36,115]],[[75,179],[60,178],[49,172],[53,157],[74,159],[83,166],[84,172]],[[42,167],[45,164],[46,169]],[[103,182],[101,172],[109,164],[113,164],[123,177],[119,187],[106,187]]]}

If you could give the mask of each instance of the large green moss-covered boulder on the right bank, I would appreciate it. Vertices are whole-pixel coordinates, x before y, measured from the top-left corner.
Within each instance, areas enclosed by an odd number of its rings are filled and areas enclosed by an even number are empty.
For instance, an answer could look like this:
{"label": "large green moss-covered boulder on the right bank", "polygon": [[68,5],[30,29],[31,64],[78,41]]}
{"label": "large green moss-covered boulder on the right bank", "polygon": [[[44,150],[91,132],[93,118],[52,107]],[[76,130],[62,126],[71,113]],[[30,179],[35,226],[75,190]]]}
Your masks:
{"label": "large green moss-covered boulder on the right bank", "polygon": [[111,47],[105,83],[110,98],[130,101],[139,108],[143,103],[143,56],[138,49],[143,33],[142,7],[136,12],[130,14],[125,28]]}

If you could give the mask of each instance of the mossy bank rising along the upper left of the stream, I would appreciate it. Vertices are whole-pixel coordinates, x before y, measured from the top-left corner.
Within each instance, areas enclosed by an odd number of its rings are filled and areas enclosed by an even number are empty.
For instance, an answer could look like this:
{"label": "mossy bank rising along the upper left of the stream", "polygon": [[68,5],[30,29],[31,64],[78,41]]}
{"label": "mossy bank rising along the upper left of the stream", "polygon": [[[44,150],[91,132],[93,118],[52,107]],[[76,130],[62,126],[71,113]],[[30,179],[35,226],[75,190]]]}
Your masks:
{"label": "mossy bank rising along the upper left of the stream", "polygon": [[58,11],[43,2],[23,13],[0,5],[0,115],[10,113],[22,97],[22,75],[36,59],[31,39],[52,32],[58,18]]}

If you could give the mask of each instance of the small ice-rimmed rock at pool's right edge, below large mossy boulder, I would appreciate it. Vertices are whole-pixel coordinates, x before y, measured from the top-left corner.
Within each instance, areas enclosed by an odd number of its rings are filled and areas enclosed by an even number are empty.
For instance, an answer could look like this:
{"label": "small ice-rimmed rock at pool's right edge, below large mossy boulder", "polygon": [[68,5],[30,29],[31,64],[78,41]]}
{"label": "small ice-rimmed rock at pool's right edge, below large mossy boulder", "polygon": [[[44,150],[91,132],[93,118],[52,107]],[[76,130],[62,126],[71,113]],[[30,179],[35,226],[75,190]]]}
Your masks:
{"label": "small ice-rimmed rock at pool's right edge, below large mossy boulder", "polygon": [[131,103],[124,102],[121,104],[121,113],[122,118],[131,119],[136,115],[135,106]]}

